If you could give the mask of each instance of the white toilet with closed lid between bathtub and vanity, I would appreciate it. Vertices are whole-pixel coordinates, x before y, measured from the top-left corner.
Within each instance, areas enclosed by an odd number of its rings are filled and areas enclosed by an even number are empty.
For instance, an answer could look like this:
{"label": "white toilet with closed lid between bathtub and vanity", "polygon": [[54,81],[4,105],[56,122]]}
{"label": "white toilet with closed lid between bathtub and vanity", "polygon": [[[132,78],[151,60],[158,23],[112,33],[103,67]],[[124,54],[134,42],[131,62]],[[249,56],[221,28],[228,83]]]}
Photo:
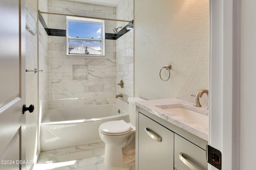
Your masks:
{"label": "white toilet with closed lid between bathtub and vanity", "polygon": [[105,164],[119,167],[135,161],[135,102],[140,98],[128,98],[130,122],[124,120],[108,121],[99,127],[99,134],[105,143]]}

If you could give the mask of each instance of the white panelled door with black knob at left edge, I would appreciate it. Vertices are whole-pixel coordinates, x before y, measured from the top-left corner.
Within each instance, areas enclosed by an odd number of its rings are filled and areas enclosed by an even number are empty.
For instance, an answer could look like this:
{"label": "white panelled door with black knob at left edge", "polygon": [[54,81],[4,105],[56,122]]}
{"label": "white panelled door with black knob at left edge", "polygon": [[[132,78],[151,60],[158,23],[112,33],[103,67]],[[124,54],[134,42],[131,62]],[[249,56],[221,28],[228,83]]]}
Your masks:
{"label": "white panelled door with black knob at left edge", "polygon": [[25,4],[0,1],[0,169],[25,169]]}

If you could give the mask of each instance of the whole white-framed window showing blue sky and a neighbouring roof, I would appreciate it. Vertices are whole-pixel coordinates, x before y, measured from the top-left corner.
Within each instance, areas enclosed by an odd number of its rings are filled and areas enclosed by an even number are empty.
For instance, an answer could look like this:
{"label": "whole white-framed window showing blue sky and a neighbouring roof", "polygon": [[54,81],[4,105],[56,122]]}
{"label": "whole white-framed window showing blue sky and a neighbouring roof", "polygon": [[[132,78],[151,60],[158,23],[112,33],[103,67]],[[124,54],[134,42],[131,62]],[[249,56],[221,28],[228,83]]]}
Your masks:
{"label": "whole white-framed window showing blue sky and a neighbouring roof", "polygon": [[67,16],[67,55],[105,55],[104,20]]}

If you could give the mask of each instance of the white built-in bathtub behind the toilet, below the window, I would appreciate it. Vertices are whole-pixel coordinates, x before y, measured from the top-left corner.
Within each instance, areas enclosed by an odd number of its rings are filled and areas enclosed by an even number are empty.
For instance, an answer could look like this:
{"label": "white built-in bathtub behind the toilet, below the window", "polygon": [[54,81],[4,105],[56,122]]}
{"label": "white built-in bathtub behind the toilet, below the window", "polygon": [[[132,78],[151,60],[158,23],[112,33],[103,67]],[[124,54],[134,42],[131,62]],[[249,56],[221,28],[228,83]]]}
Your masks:
{"label": "white built-in bathtub behind the toilet, below the window", "polygon": [[42,151],[102,142],[98,128],[101,123],[123,119],[129,114],[115,104],[49,109],[41,123]]}

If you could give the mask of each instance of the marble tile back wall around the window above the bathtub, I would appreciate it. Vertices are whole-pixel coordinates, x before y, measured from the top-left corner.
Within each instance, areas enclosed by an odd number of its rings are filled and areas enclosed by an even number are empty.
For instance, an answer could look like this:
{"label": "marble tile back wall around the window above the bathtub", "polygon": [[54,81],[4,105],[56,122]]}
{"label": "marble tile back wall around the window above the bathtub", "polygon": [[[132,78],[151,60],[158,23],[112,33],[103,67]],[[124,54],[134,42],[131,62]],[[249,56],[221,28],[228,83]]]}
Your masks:
{"label": "marble tile back wall around the window above the bathtub", "polygon": [[[116,18],[116,8],[62,0],[48,0],[48,12]],[[115,25],[105,21],[106,33]],[[49,15],[48,28],[66,29],[66,17]],[[75,65],[87,70],[74,74]],[[66,55],[66,37],[48,36],[48,71],[49,108],[116,103],[115,40],[105,40],[105,56],[76,56]]]}

